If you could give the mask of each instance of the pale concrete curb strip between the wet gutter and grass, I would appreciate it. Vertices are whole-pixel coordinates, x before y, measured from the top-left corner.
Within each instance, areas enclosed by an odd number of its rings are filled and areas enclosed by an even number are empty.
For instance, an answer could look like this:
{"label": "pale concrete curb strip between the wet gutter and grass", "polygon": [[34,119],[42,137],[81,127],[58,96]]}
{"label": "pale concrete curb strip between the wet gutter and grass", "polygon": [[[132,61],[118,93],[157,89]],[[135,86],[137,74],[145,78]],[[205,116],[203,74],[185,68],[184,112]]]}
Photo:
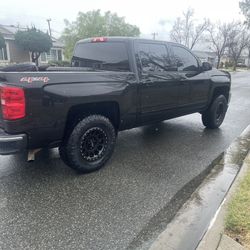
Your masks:
{"label": "pale concrete curb strip between the wet gutter and grass", "polygon": [[245,158],[241,170],[234,181],[232,187],[230,188],[228,194],[226,195],[224,202],[218,209],[213,220],[211,221],[210,227],[207,233],[201,240],[197,250],[241,250],[246,249],[241,244],[236,242],[234,239],[224,234],[224,223],[225,216],[229,202],[232,199],[233,194],[236,192],[239,183],[244,178],[247,170],[250,169],[250,153]]}

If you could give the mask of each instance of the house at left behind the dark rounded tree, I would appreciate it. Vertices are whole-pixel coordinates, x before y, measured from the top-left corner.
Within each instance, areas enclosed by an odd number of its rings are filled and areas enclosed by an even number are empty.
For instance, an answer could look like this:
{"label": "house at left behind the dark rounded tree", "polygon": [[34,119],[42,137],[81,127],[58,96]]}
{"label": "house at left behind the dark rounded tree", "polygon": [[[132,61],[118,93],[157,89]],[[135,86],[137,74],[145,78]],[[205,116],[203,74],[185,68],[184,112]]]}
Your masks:
{"label": "house at left behind the dark rounded tree", "polygon": [[[1,25],[0,33],[3,35],[6,43],[6,47],[0,49],[0,65],[11,63],[30,62],[31,56],[28,51],[23,50],[15,43],[15,33],[18,30],[25,30],[14,25]],[[42,53],[39,57],[39,63],[45,64],[49,61],[63,61],[64,55],[63,43],[52,37],[53,47],[49,53]]]}

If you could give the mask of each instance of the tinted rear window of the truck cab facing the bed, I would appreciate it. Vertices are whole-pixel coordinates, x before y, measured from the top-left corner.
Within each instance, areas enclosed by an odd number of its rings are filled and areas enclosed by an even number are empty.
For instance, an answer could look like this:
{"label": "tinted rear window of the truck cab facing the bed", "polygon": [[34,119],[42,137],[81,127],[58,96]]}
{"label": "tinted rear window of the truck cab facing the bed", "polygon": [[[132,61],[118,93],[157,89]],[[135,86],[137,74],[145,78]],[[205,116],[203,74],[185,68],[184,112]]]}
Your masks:
{"label": "tinted rear window of the truck cab facing the bed", "polygon": [[110,71],[130,71],[125,43],[80,43],[76,46],[72,66]]}

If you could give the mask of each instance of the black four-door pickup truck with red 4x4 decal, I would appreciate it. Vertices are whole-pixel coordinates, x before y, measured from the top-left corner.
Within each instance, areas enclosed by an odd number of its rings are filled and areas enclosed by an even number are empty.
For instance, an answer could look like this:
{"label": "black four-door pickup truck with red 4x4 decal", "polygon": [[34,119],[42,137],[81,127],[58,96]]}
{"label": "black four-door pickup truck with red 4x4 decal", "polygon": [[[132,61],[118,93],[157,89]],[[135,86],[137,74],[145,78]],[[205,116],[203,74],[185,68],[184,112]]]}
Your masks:
{"label": "black four-door pickup truck with red 4x4 decal", "polygon": [[71,67],[2,69],[0,154],[59,147],[68,166],[91,172],[111,157],[118,131],[195,112],[218,128],[230,86],[229,73],[179,44],[84,39]]}

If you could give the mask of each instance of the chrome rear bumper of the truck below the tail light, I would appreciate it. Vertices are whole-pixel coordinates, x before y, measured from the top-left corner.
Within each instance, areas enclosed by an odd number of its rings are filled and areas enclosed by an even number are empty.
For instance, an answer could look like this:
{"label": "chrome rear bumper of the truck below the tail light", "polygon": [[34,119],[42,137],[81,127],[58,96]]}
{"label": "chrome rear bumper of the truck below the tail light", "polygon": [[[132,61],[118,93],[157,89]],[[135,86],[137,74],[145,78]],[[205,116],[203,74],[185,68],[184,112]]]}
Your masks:
{"label": "chrome rear bumper of the truck below the tail light", "polygon": [[27,148],[25,134],[10,135],[0,129],[0,155],[16,154]]}

